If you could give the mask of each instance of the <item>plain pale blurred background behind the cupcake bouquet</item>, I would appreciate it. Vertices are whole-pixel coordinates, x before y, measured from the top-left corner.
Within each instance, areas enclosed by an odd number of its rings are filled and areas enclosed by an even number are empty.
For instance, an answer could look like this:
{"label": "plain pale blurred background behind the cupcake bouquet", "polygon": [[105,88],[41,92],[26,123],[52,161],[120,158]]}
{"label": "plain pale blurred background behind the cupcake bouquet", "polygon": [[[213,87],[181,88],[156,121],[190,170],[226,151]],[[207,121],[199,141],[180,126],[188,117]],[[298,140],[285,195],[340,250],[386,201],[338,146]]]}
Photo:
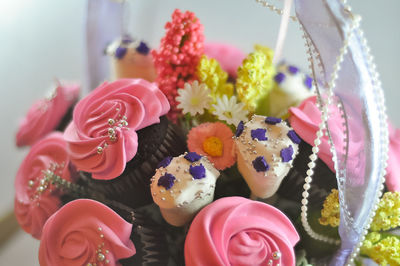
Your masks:
{"label": "plain pale blurred background behind the cupcake bouquet", "polygon": [[[349,3],[353,12],[363,17],[362,27],[381,73],[389,117],[400,126],[400,1]],[[279,17],[254,0],[133,0],[131,34],[157,47],[163,25],[175,7],[194,11],[209,41],[228,42],[245,52],[250,52],[254,43],[275,45]],[[14,146],[17,119],[33,100],[43,97],[55,77],[84,78],[85,13],[85,0],[0,0],[0,217],[12,209],[14,176],[27,152]],[[289,25],[284,55],[306,69],[305,49],[295,24]],[[37,265],[37,249],[37,241],[19,233],[0,249],[0,264]]]}

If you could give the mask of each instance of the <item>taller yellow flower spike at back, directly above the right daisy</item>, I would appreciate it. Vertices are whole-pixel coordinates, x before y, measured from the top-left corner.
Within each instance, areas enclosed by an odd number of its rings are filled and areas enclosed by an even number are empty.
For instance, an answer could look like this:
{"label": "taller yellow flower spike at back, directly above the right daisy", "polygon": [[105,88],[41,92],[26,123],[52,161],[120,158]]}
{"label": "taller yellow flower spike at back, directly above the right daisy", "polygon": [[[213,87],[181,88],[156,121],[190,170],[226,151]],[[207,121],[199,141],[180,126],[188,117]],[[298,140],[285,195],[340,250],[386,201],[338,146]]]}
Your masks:
{"label": "taller yellow flower spike at back, directly above the right daisy", "polygon": [[254,112],[258,105],[265,104],[274,82],[275,68],[272,64],[273,51],[256,46],[238,69],[236,91],[247,109]]}

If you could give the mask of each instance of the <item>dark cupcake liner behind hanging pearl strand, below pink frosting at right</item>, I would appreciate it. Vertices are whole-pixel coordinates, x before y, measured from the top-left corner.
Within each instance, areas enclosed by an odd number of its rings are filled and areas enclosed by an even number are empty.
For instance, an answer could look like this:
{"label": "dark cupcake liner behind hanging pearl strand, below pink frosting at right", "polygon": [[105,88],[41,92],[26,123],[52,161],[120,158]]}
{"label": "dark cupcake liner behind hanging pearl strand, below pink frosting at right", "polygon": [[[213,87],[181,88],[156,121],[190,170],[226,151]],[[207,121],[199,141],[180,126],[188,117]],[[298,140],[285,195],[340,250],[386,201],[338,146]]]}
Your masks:
{"label": "dark cupcake liner behind hanging pearl strand, below pink frosting at right", "polygon": [[[312,154],[312,147],[302,141],[299,144],[299,153],[293,161],[293,167],[288,175],[283,179],[278,195],[289,200],[300,203],[304,191],[306,171],[308,170],[309,156]],[[336,175],[321,160],[315,162],[314,175],[308,190],[308,204],[311,207],[322,208],[325,198],[331,193],[333,188],[337,188]]]}

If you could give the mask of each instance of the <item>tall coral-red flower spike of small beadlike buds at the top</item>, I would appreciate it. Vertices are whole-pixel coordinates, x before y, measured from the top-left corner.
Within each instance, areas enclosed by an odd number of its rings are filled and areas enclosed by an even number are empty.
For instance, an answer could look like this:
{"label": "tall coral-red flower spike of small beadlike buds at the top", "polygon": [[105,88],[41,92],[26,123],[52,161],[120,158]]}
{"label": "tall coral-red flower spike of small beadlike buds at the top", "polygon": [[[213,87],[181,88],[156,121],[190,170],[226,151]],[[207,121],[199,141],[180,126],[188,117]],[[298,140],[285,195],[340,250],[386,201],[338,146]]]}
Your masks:
{"label": "tall coral-red flower spike of small beadlike buds at the top", "polygon": [[193,12],[182,13],[176,9],[165,29],[160,48],[153,50],[152,55],[158,74],[156,82],[171,105],[168,115],[176,120],[180,114],[175,100],[177,90],[195,80],[196,67],[203,54],[203,25]]}

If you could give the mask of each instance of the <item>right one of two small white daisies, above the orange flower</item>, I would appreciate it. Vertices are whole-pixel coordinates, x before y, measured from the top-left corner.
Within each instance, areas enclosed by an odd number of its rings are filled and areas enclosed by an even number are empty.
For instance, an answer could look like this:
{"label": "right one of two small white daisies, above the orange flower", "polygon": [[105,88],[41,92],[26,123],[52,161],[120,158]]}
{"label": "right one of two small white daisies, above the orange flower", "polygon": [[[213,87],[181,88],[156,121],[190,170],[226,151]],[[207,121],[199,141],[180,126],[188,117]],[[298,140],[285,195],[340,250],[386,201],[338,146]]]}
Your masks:
{"label": "right one of two small white daisies, above the orange flower", "polygon": [[249,111],[245,109],[243,103],[237,101],[236,96],[231,96],[229,99],[226,95],[217,97],[217,104],[213,104],[212,107],[214,108],[213,114],[228,124],[237,126],[240,121],[248,120]]}

